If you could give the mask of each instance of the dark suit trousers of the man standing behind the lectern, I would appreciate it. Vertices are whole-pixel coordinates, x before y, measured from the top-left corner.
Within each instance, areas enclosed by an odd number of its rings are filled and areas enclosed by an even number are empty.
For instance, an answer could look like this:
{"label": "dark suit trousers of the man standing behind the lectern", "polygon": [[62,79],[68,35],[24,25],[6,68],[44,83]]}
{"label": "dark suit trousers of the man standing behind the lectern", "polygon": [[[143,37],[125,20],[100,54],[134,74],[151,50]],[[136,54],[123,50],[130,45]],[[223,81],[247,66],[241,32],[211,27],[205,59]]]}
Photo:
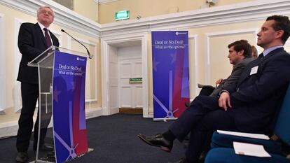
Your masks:
{"label": "dark suit trousers of the man standing behind the lectern", "polygon": [[[16,140],[16,148],[18,152],[27,151],[29,140],[32,135],[33,115],[36,107],[37,99],[39,98],[39,85],[21,83],[22,109],[18,120],[18,134]],[[36,142],[39,129],[39,113],[37,114],[34,125],[34,141]],[[41,129],[41,143],[44,142],[46,136],[46,127]],[[36,146],[36,143],[34,144]]]}

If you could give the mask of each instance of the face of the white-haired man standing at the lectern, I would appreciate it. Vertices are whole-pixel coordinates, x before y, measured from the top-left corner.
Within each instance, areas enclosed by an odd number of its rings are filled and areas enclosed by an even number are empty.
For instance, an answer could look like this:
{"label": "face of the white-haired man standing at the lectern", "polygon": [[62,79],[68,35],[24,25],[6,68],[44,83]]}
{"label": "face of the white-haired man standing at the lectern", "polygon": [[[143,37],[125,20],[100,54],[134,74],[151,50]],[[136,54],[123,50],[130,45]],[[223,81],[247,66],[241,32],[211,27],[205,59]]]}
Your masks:
{"label": "face of the white-haired man standing at the lectern", "polygon": [[45,27],[49,27],[53,23],[53,10],[50,10],[50,8],[41,8],[37,15],[37,20]]}

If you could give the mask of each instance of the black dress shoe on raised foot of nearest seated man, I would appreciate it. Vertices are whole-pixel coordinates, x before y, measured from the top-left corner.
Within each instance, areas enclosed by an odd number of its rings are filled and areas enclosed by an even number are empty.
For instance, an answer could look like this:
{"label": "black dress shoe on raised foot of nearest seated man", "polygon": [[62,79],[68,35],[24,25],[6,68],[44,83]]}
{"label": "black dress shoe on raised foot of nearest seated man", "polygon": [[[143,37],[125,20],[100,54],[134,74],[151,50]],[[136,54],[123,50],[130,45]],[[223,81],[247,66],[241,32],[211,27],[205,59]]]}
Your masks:
{"label": "black dress shoe on raised foot of nearest seated man", "polygon": [[172,150],[173,142],[165,139],[162,134],[156,134],[153,136],[144,136],[142,134],[138,134],[137,136],[139,139],[145,143],[148,143],[150,146],[156,146],[161,150],[166,151],[167,153],[170,153]]}

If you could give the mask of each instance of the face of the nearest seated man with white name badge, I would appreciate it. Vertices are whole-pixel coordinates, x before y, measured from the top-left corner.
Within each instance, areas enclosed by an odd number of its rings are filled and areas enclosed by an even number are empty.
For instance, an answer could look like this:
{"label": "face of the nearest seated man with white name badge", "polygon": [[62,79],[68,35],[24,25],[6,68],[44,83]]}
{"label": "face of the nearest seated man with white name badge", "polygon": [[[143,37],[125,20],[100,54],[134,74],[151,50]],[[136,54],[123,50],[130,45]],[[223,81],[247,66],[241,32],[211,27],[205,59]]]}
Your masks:
{"label": "face of the nearest seated man with white name badge", "polygon": [[275,38],[277,38],[277,31],[272,28],[275,20],[268,20],[264,22],[261,27],[261,31],[258,32],[258,42],[257,45],[264,49],[270,48]]}

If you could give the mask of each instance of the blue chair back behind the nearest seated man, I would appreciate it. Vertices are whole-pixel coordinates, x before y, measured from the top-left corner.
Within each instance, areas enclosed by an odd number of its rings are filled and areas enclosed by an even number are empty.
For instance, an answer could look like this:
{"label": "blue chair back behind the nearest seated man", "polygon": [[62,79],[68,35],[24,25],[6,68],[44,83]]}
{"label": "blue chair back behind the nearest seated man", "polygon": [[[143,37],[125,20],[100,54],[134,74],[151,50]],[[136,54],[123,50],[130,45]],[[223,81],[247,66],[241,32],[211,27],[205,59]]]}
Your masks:
{"label": "blue chair back behind the nearest seated man", "polygon": [[290,146],[290,83],[275,124],[275,134]]}

